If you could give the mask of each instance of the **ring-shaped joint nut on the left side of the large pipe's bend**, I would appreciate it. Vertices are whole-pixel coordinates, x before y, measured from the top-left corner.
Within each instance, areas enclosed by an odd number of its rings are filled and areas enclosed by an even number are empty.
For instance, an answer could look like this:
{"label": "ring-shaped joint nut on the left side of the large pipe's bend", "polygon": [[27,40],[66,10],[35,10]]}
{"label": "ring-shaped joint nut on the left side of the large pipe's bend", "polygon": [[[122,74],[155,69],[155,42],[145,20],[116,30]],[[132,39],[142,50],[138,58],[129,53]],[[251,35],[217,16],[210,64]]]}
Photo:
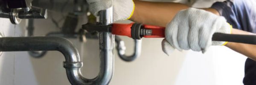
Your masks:
{"label": "ring-shaped joint nut on the left side of the large pipe's bend", "polygon": [[83,66],[83,62],[63,62],[64,68],[81,68]]}

